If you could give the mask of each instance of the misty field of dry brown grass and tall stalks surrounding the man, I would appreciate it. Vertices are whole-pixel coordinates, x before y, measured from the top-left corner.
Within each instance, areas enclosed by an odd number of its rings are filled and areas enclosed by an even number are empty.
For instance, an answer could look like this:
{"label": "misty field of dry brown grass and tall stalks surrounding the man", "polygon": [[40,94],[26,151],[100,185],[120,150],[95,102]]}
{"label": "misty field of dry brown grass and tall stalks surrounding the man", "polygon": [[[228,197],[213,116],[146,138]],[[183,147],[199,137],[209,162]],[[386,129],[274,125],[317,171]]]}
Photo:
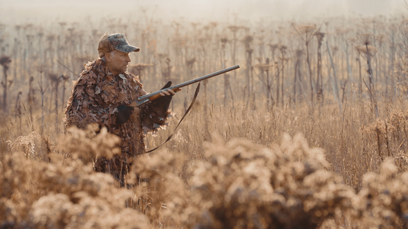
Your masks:
{"label": "misty field of dry brown grass and tall stalks surrounding the man", "polygon": [[[404,17],[126,20],[0,24],[0,228],[408,228]],[[62,122],[106,31],[140,47],[149,92],[241,66],[203,82],[127,188],[93,170],[118,138]]]}

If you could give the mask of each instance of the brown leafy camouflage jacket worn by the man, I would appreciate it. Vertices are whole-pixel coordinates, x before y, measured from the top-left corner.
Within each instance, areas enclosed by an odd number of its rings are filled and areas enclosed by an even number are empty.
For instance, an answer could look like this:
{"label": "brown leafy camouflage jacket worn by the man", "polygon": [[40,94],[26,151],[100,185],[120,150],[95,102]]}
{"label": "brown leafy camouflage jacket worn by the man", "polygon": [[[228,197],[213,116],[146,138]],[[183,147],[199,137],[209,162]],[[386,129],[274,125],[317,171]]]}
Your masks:
{"label": "brown leafy camouflage jacket worn by the man", "polygon": [[137,97],[147,94],[138,77],[122,72],[113,75],[104,61],[96,59],[85,64],[85,70],[77,81],[73,81],[71,97],[65,110],[64,128],[77,126],[86,128],[89,123],[98,123],[121,139],[122,154],[138,155],[145,152],[144,137],[167,126],[170,110],[145,103],[135,108],[126,123],[115,122],[118,106],[127,105]]}

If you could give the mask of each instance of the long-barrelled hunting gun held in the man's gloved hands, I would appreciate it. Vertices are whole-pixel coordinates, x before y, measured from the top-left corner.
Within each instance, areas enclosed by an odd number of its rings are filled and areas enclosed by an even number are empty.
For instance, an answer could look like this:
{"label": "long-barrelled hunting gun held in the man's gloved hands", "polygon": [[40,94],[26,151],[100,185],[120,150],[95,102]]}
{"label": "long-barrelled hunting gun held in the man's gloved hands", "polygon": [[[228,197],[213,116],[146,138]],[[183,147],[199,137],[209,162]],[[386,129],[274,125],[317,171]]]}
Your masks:
{"label": "long-barrelled hunting gun held in the man's gloved hands", "polygon": [[207,74],[207,75],[205,75],[203,77],[198,77],[196,79],[192,79],[190,81],[186,81],[184,83],[177,84],[176,86],[171,86],[169,88],[158,90],[158,91],[150,93],[150,94],[145,94],[145,95],[143,95],[141,97],[138,97],[138,99],[132,101],[129,104],[129,106],[138,107],[138,106],[140,106],[140,105],[142,105],[144,103],[147,103],[148,101],[153,101],[154,99],[158,99],[159,97],[161,97],[160,92],[162,92],[163,90],[169,90],[169,89],[173,90],[173,89],[176,89],[176,88],[183,88],[185,86],[189,86],[190,84],[197,83],[199,81],[203,81],[204,79],[209,79],[209,78],[212,78],[212,77],[216,77],[219,74],[223,74],[223,73],[226,73],[226,72],[230,72],[232,70],[236,70],[237,68],[239,68],[239,65],[232,66],[230,68],[225,68],[223,70],[219,70],[218,72],[213,72],[213,73]]}

